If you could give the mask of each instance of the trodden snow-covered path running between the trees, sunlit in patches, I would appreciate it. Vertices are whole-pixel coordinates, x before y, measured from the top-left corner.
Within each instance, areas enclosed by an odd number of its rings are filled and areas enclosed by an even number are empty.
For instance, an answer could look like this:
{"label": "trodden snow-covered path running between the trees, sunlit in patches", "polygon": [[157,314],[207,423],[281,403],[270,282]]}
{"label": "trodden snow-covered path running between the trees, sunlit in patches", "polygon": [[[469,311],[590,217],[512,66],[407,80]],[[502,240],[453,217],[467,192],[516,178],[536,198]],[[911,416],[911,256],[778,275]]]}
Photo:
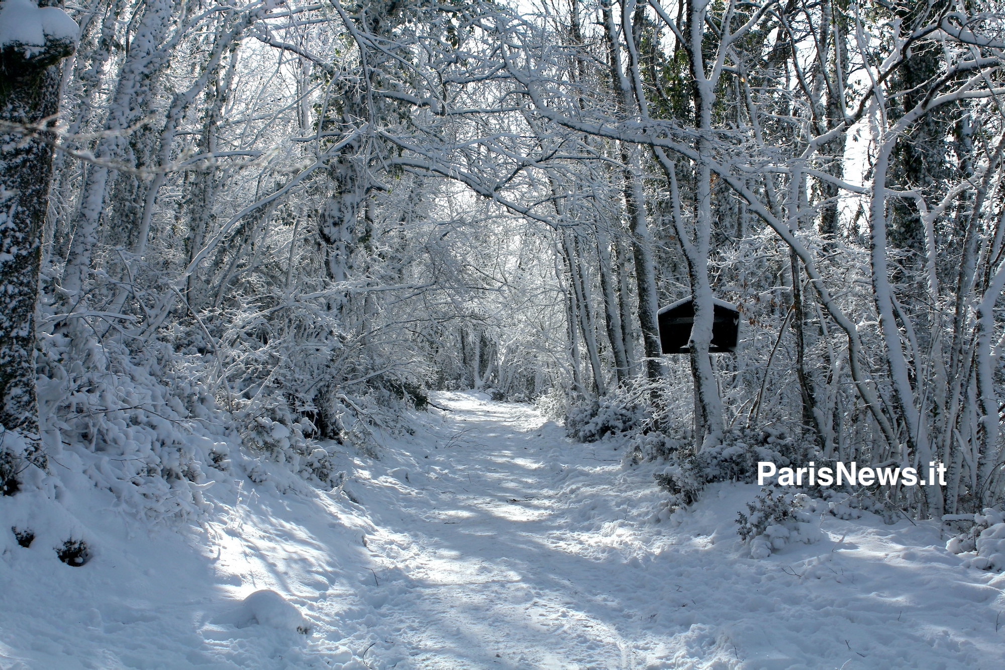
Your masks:
{"label": "trodden snow-covered path running between the trees, sunlit in patches", "polygon": [[[601,532],[583,527],[611,502],[600,489],[617,455],[597,457],[589,445],[570,450],[561,427],[528,406],[461,393],[436,400],[453,411],[444,439],[422,456],[432,476],[403,482],[415,487],[411,495],[384,507],[375,518],[381,532],[368,538],[384,578],[403,582],[384,590],[393,598],[383,614],[404,627],[413,660],[631,667],[637,639],[623,633],[652,628],[651,589],[633,573],[637,564],[605,560],[620,543],[621,523]],[[597,477],[603,469],[611,472]],[[596,499],[577,496],[570,509],[568,497],[591,485]]]}

